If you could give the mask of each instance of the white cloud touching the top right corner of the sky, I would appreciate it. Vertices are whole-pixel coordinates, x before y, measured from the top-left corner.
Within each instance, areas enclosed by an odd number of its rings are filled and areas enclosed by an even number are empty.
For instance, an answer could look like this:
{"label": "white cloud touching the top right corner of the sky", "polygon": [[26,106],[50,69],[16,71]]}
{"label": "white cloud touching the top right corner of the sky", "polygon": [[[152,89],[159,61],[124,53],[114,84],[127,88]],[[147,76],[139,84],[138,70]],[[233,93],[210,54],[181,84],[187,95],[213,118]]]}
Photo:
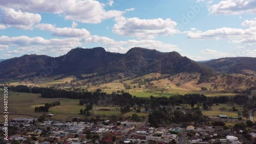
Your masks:
{"label": "white cloud touching the top right corner of the sky", "polygon": [[256,12],[256,0],[225,0],[209,7],[211,14],[254,14]]}

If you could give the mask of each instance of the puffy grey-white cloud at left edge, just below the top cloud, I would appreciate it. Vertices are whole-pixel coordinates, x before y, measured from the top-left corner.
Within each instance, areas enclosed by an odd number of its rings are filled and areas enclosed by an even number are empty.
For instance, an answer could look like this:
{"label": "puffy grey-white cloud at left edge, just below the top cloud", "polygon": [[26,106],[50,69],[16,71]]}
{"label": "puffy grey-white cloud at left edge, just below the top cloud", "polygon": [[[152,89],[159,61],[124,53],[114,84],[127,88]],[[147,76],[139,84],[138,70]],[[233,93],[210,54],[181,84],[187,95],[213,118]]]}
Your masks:
{"label": "puffy grey-white cloud at left edge, just below the top cloud", "polygon": [[11,8],[2,9],[1,23],[19,29],[32,29],[35,23],[41,21],[40,14],[33,14],[29,12],[15,11]]}

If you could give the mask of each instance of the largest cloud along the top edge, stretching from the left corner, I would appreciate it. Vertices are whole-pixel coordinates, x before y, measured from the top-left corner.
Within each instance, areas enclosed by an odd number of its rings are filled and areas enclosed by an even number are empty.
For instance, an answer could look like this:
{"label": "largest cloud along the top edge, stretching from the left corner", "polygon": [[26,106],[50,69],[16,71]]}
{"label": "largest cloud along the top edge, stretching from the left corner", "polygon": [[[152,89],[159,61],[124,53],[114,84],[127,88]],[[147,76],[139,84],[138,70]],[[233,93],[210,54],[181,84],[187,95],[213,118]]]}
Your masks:
{"label": "largest cloud along the top edge, stretching from the left corner", "polygon": [[94,0],[0,1],[0,8],[13,8],[30,13],[47,12],[64,16],[67,20],[100,23],[104,19],[121,16],[124,11],[104,9],[105,4]]}

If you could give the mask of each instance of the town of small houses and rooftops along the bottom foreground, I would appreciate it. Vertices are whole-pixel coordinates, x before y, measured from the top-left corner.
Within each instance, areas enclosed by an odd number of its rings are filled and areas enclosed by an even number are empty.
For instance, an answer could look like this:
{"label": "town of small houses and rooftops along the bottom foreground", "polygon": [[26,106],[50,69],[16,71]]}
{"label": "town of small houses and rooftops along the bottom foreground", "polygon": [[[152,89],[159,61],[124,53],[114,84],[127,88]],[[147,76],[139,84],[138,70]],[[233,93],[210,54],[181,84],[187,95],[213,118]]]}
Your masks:
{"label": "town of small houses and rooftops along the bottom foreground", "polygon": [[[181,127],[151,127],[147,121],[105,121],[82,122],[80,117],[73,118],[73,122],[58,122],[51,119],[54,114],[47,115],[45,121],[38,122],[37,118],[18,117],[9,122],[8,140],[1,139],[1,143],[251,143],[256,138],[256,126],[248,130],[250,125],[243,122],[232,130],[225,124],[223,115],[212,123],[214,126],[189,125]],[[100,120],[100,119],[99,119]],[[244,125],[244,126],[243,126]],[[243,128],[244,127],[244,128]],[[4,127],[1,127],[4,130]],[[251,141],[245,137],[249,135]],[[248,137],[248,136],[247,136]]]}

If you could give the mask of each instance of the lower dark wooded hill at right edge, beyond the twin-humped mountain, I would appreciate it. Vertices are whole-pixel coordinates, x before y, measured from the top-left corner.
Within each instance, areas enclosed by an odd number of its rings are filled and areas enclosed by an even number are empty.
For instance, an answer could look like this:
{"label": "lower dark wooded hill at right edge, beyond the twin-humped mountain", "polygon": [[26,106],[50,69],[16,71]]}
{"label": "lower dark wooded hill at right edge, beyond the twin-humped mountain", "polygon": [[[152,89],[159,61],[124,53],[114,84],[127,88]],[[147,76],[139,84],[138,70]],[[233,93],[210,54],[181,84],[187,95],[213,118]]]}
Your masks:
{"label": "lower dark wooded hill at right edge, beyond the twin-humped mountain", "polygon": [[242,74],[245,69],[256,71],[256,58],[251,57],[220,58],[203,62],[203,64],[228,74]]}

